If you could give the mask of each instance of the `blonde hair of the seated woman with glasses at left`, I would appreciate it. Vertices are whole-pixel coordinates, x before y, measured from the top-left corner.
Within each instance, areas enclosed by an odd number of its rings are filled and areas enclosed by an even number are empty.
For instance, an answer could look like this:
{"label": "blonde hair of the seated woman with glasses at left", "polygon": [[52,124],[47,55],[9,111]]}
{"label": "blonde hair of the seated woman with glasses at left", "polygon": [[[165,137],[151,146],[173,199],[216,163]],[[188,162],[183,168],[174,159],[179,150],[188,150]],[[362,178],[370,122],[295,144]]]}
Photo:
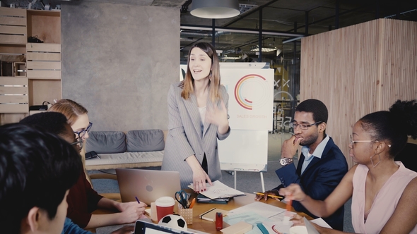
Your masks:
{"label": "blonde hair of the seated woman with glasses at left", "polygon": [[76,103],[71,99],[60,99],[55,104],[53,104],[48,111],[54,111],[64,114],[66,121],[69,125],[73,125],[78,116],[81,116],[84,113],[88,113],[87,109],[84,106]]}

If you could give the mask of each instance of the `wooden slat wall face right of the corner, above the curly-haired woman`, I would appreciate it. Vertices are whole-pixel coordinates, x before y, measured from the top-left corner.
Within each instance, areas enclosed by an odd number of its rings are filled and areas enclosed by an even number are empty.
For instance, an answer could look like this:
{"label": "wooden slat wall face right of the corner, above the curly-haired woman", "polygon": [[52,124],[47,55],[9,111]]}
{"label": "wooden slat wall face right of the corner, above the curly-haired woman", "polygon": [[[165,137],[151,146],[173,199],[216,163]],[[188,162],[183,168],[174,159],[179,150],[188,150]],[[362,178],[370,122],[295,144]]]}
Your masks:
{"label": "wooden slat wall face right of the corner, above the curly-haired woman", "polygon": [[381,20],[380,102],[389,109],[397,99],[417,99],[417,23]]}

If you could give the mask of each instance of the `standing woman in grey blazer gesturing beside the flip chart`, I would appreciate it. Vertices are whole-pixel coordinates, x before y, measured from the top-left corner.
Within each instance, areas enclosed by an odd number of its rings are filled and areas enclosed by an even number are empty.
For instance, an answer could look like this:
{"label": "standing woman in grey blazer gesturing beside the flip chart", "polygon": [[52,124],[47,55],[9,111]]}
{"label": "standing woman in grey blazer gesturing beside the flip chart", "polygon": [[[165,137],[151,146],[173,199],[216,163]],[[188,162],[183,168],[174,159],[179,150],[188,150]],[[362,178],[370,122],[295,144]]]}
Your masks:
{"label": "standing woman in grey blazer gesturing beside the flip chart", "polygon": [[220,84],[216,49],[197,43],[189,50],[187,73],[168,93],[168,136],[162,170],[180,171],[181,187],[194,183],[206,190],[206,181],[221,178],[217,139],[230,134],[228,93]]}

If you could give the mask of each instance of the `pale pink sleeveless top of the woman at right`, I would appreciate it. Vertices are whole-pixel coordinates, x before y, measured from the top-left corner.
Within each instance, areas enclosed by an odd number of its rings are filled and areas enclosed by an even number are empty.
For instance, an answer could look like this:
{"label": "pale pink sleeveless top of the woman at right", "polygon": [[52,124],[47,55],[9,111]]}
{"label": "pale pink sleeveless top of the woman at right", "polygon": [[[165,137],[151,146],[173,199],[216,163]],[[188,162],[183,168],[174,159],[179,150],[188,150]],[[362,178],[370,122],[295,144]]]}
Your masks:
{"label": "pale pink sleeveless top of the woman at right", "polygon": [[[380,233],[385,223],[391,218],[397,207],[399,198],[409,182],[417,176],[417,173],[406,168],[401,161],[398,171],[385,182],[380,192],[377,193],[374,203],[370,208],[365,223],[365,179],[368,167],[358,165],[353,175],[352,195],[352,225],[356,233]],[[417,226],[411,230],[417,233]]]}

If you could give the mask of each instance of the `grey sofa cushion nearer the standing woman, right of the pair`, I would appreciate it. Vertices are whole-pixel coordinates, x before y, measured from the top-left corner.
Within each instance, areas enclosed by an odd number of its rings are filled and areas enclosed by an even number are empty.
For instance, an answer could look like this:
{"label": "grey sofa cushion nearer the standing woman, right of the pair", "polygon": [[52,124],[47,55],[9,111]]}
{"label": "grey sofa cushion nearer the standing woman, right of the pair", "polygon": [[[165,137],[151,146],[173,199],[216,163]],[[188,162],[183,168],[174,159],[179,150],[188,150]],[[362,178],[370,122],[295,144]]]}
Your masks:
{"label": "grey sofa cushion nearer the standing woman, right of the pair", "polygon": [[127,152],[153,152],[165,148],[160,129],[131,130],[126,134]]}

